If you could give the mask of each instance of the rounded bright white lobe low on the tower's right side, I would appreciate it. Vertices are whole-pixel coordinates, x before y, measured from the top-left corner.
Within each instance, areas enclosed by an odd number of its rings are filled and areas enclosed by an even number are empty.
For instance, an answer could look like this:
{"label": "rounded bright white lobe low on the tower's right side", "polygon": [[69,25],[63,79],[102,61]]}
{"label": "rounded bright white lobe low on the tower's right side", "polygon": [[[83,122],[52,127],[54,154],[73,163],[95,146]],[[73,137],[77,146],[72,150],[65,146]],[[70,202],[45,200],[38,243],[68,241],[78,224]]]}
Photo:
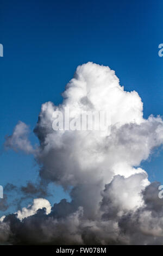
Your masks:
{"label": "rounded bright white lobe low on the tower's right side", "polygon": [[122,216],[130,210],[135,211],[143,205],[141,192],[149,184],[146,173],[137,173],[124,178],[116,175],[110,184],[105,185],[101,210],[103,218],[108,220]]}

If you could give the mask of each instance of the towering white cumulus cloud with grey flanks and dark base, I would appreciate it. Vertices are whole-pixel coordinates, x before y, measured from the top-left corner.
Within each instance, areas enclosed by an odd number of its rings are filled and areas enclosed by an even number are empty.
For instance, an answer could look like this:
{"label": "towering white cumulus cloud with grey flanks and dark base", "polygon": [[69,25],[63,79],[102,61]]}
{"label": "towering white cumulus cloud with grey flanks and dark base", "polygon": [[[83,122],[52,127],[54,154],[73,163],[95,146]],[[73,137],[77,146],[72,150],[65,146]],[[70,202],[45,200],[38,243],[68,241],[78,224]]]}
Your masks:
{"label": "towering white cumulus cloud with grey flanks and dark base", "polygon": [[[162,119],[153,115],[144,119],[139,94],[126,92],[108,66],[91,62],[78,66],[62,95],[61,105],[46,102],[41,107],[34,130],[40,141],[36,149],[23,123],[5,145],[33,154],[40,178],[65,189],[72,187],[72,201],[63,199],[47,212],[47,202],[44,205],[43,199],[37,199],[41,207],[35,207],[34,201],[31,209],[19,212],[24,217],[3,217],[0,240],[12,244],[162,244],[159,184],[150,184],[146,171],[139,167],[163,143]],[[65,107],[71,118],[83,111],[109,111],[111,132],[54,131],[53,113],[64,112]]]}

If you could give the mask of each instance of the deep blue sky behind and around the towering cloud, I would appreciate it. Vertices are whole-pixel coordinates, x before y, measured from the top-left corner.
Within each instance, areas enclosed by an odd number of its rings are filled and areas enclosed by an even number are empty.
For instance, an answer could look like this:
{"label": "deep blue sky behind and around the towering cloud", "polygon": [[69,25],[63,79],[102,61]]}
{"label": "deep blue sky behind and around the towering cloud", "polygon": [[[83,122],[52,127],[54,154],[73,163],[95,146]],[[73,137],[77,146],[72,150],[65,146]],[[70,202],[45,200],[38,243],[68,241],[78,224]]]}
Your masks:
{"label": "deep blue sky behind and around the towering cloud", "polygon": [[[1,0],[1,147],[18,120],[33,131],[41,104],[61,102],[77,66],[88,61],[110,66],[126,90],[136,90],[145,118],[163,115],[162,11],[161,0]],[[37,143],[33,133],[30,139]],[[159,149],[141,166],[149,180],[163,184],[162,156]],[[1,185],[37,178],[32,156],[7,151],[0,157]],[[54,190],[52,203],[68,198],[61,188]]]}

